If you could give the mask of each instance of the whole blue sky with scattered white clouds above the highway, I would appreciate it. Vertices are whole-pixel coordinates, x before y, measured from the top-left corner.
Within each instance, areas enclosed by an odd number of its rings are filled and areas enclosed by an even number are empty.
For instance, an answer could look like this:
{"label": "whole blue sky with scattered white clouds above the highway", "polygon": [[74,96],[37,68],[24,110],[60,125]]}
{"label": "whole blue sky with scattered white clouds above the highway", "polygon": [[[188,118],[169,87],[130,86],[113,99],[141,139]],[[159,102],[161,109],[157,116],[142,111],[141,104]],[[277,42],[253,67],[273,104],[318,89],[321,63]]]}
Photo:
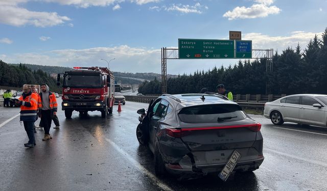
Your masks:
{"label": "whole blue sky with scattered white clouds above the highway", "polygon": [[[228,39],[253,49],[306,48],[327,27],[327,0],[0,0],[0,60],[50,66],[107,66],[161,73],[161,47],[179,38]],[[168,60],[190,74],[238,60]]]}

